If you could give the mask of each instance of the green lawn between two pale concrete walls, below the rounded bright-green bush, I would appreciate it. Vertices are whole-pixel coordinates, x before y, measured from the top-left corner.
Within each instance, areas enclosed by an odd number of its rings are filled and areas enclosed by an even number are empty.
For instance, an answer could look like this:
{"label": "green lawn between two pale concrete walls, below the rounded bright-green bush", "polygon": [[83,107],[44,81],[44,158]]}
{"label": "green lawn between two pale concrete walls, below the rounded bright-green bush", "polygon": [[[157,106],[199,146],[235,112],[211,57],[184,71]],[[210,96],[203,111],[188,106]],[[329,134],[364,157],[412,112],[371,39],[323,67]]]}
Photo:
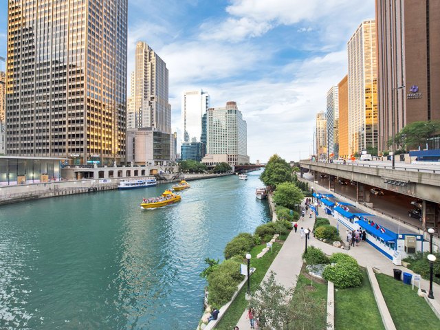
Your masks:
{"label": "green lawn between two pale concrete walls, below the rounded bright-green bush", "polygon": [[336,329],[385,329],[366,270],[361,270],[364,275],[362,287],[335,289]]}

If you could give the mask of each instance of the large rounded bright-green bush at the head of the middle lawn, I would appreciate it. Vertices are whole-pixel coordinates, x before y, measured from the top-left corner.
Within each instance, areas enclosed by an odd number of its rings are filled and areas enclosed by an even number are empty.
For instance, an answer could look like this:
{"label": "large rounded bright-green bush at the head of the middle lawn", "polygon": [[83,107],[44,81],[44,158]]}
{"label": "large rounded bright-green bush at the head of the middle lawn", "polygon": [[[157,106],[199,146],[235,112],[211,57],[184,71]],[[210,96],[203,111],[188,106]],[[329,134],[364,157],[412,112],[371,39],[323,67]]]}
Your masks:
{"label": "large rounded bright-green bush at the head of the middle lawn", "polygon": [[360,287],[362,285],[362,272],[358,263],[342,262],[334,266],[325,267],[322,277],[335,284],[335,287]]}

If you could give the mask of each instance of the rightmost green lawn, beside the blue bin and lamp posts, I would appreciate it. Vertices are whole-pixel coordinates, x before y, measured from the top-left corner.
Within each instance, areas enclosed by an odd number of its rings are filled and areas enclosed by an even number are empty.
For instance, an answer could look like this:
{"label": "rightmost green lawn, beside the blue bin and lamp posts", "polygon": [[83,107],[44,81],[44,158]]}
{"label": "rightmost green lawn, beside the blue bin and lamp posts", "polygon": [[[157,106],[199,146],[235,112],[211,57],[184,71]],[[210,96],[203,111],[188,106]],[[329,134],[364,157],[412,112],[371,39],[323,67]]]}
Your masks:
{"label": "rightmost green lawn, beside the blue bin and lamp posts", "polygon": [[397,329],[440,329],[440,320],[425,299],[417,296],[416,287],[412,291],[412,285],[384,274],[376,278]]}

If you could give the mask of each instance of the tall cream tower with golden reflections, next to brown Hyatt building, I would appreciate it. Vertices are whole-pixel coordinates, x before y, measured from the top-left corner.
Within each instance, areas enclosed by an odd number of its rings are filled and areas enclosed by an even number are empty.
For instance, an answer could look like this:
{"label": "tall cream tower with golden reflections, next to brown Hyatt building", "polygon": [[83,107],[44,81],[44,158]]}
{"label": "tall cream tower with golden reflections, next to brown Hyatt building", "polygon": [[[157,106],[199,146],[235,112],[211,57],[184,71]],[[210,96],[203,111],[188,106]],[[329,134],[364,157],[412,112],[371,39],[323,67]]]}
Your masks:
{"label": "tall cream tower with golden reflections, next to brown Hyatt building", "polygon": [[377,148],[376,25],[363,21],[347,44],[349,52],[349,153]]}

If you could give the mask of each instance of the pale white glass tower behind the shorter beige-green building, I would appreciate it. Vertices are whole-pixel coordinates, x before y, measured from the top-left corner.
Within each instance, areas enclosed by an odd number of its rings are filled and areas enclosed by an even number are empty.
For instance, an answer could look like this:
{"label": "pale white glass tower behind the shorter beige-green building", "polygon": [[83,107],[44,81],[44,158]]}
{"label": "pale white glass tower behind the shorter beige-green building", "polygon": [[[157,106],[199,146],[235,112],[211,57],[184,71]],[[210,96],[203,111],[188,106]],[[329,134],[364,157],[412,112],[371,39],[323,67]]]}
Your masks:
{"label": "pale white glass tower behind the shorter beige-green building", "polygon": [[184,142],[192,137],[201,141],[202,117],[210,107],[210,96],[206,91],[197,89],[185,91],[181,97],[181,122],[184,129]]}

